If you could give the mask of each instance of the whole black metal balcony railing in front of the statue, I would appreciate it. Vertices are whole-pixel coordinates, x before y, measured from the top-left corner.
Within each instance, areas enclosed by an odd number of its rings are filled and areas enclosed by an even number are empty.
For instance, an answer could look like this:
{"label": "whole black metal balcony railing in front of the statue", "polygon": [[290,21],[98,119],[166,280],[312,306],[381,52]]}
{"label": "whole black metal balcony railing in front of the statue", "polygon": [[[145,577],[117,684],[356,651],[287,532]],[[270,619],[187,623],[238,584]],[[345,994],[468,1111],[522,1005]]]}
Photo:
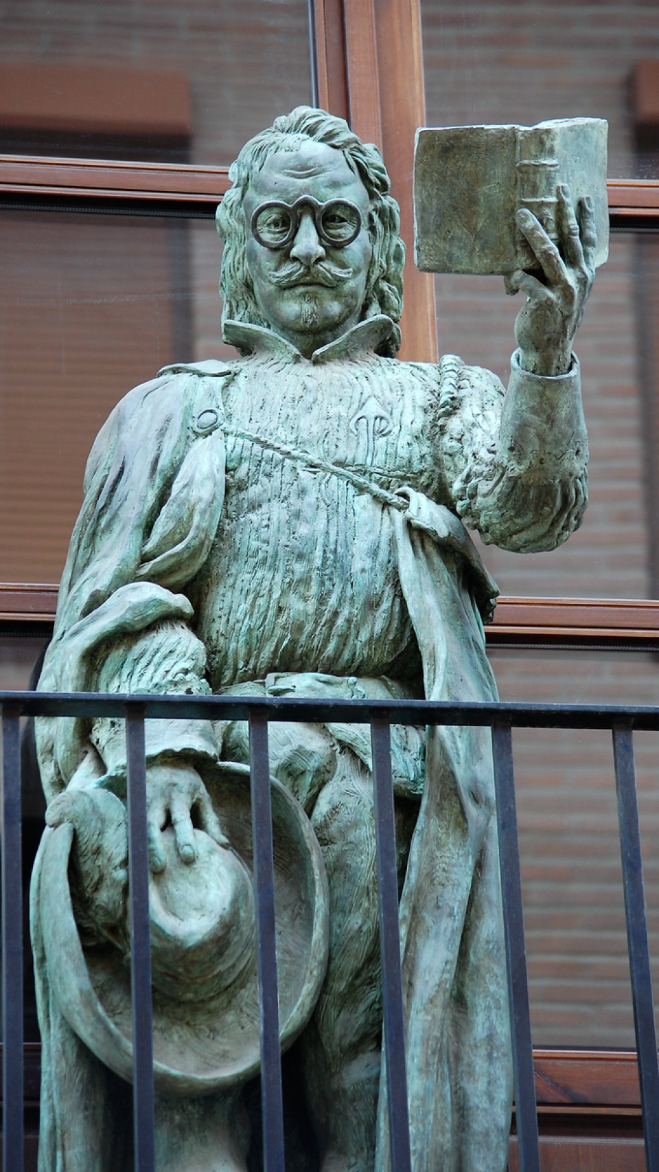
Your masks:
{"label": "whole black metal balcony railing in front of the statue", "polygon": [[314,723],[329,721],[369,723],[371,727],[384,994],[384,1044],[393,1172],[411,1172],[411,1160],[400,984],[391,724],[452,724],[492,728],[521,1172],[540,1172],[540,1153],[512,729],[611,730],[645,1152],[648,1172],[659,1172],[659,1064],[632,747],[634,729],[659,731],[659,708],[502,702],[453,704],[412,700],[343,701],[293,697],[248,699],[243,696],[63,695],[26,691],[0,691],[0,706],[2,711],[4,1172],[23,1172],[23,977],[22,900],[20,898],[21,716],[125,718],[136,1172],[153,1172],[155,1166],[145,718],[245,720],[249,722],[252,827],[261,1006],[261,1104],[265,1172],[284,1172],[268,722],[303,721]]}

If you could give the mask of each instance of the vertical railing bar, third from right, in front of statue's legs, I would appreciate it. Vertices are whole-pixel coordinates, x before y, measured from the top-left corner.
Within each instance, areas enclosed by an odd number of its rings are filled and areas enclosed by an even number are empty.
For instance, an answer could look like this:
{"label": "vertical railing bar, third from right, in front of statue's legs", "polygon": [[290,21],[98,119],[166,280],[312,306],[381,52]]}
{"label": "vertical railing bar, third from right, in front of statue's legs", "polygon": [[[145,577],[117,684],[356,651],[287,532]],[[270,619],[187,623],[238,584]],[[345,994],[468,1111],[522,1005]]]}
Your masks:
{"label": "vertical railing bar, third from right, in front of statue's legs", "polygon": [[392,1172],[411,1172],[405,1020],[400,979],[396,816],[391,776],[391,728],[387,714],[371,716],[373,800],[378,871],[383,1028]]}

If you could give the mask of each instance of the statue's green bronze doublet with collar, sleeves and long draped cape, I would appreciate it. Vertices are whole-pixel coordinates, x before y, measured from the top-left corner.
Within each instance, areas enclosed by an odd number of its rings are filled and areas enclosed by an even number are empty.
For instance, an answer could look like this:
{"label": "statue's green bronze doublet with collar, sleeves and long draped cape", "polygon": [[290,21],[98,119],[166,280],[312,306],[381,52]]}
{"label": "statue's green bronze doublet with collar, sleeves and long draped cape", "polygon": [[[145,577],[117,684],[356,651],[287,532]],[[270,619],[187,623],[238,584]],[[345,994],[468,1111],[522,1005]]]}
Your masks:
{"label": "statue's green bronze doublet with collar, sleeves and long draped cape", "polygon": [[[119,403],[89,458],[41,688],[496,696],[496,587],[465,524],[516,551],[579,524],[578,364],[544,379],[514,356],[504,393],[452,355],[380,357],[391,328],[370,319],[307,360],[229,322],[240,360],[169,367]],[[420,800],[401,897],[413,1167],[496,1172],[512,1091],[489,731],[393,732],[396,790]],[[317,736],[273,764],[308,812],[337,747],[370,766],[355,728]],[[147,759],[201,768],[239,741],[149,722]],[[49,799],[125,772],[118,722],[42,718],[37,743]]]}

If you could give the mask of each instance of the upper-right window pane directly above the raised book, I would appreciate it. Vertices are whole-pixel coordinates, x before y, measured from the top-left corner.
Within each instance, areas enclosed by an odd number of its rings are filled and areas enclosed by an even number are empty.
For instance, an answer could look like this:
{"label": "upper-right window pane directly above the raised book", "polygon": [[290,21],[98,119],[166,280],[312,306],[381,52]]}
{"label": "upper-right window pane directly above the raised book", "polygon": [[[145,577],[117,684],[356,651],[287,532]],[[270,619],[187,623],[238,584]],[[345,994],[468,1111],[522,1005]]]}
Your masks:
{"label": "upper-right window pane directly above the raised book", "polygon": [[659,7],[421,0],[428,125],[609,120],[609,175],[659,177]]}

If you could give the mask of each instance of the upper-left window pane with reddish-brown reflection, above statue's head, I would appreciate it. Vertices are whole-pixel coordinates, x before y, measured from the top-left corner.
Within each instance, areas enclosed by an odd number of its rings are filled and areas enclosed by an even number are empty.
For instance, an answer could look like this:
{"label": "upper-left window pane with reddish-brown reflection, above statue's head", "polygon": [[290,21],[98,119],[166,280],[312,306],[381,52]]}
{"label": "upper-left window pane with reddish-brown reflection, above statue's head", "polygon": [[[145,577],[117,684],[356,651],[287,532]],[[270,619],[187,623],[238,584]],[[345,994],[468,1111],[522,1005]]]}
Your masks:
{"label": "upper-left window pane with reddish-brown reflection, above statue's head", "polygon": [[227,164],[309,102],[308,0],[0,0],[0,152]]}

